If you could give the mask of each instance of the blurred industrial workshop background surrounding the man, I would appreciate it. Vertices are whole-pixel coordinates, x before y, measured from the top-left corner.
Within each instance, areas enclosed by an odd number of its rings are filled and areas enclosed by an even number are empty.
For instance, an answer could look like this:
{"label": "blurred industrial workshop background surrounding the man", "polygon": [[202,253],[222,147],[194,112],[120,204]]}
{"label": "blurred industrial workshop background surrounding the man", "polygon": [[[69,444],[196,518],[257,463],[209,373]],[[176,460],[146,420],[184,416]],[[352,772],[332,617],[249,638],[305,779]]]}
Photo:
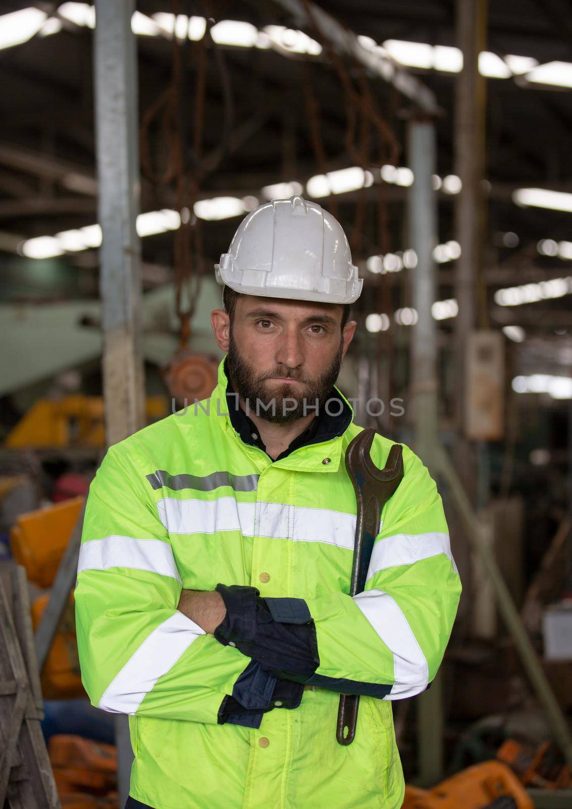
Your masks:
{"label": "blurred industrial workshop background surrounding the man", "polygon": [[437,479],[464,584],[393,705],[405,806],[571,809],[570,3],[96,6],[0,8],[0,804],[120,805],[82,504],[108,444],[210,394],[213,265],[301,194],[364,277],[339,387]]}

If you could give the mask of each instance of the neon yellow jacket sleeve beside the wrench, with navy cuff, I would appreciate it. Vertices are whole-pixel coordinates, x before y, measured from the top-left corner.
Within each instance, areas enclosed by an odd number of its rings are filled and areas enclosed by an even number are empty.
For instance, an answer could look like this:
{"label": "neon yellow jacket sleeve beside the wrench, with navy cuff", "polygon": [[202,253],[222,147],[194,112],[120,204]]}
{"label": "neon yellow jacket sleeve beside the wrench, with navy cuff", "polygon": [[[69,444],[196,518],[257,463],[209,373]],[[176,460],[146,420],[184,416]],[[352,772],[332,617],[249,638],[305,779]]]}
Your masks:
{"label": "neon yellow jacket sleeve beside the wrench, with navy cuff", "polygon": [[[275,636],[284,647],[292,633],[288,613],[301,616],[297,623],[305,632],[298,629],[295,659],[319,661],[313,674],[304,676],[299,664],[289,667],[286,651],[278,671],[269,666],[273,674],[389,700],[413,697],[435,677],[456,616],[461,582],[435,482],[408,447],[403,454],[405,474],[385,506],[364,592],[354,597],[343,591],[322,592],[305,601],[265,599],[275,618]],[[281,603],[280,610],[272,601]],[[221,629],[225,625],[233,625],[232,615]],[[256,648],[257,638],[236,646],[263,664],[274,664],[265,639],[267,625],[257,635],[265,648]]]}

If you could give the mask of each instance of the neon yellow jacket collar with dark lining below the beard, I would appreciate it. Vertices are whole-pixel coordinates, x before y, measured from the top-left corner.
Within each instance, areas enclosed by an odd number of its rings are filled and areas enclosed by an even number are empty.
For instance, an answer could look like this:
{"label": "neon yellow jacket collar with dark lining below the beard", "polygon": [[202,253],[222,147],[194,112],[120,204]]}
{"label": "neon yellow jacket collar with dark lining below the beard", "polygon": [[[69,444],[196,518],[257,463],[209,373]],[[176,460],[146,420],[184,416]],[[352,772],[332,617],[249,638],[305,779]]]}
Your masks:
{"label": "neon yellow jacket collar with dark lining below the beard", "polygon": [[[334,386],[330,395],[330,398],[339,400],[342,405],[342,412],[339,416],[330,416],[328,413],[322,412],[318,418],[313,419],[308,430],[292,441],[285,457],[283,457],[283,453],[277,460],[272,461],[263,450],[262,442],[252,438],[252,432],[256,428],[246,413],[239,410],[239,413],[233,413],[231,416],[233,402],[238,397],[235,395],[227,399],[229,379],[225,372],[225,361],[226,356],[222,358],[218,366],[218,383],[212,392],[210,412],[216,415],[217,422],[229,438],[232,437],[233,440],[238,441],[247,454],[253,460],[262,461],[264,467],[272,464],[276,468],[305,472],[335,472],[339,468],[342,439],[349,430],[354,415],[351,404],[339,391],[339,388]],[[323,463],[325,460],[326,463]]]}

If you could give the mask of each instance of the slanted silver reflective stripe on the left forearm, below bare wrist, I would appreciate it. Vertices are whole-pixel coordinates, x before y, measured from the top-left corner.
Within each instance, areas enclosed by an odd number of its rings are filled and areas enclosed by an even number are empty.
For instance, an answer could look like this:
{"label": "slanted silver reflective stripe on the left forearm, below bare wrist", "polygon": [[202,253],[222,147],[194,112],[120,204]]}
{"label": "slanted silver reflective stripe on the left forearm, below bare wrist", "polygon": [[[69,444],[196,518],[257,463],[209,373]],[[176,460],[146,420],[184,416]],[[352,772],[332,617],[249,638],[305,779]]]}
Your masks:
{"label": "slanted silver reflective stripe on the left forearm, below bare wrist", "polygon": [[175,612],[145,637],[107,687],[99,700],[99,708],[112,714],[134,714],[159,677],[170,671],[201,635],[204,629],[182,612]]}

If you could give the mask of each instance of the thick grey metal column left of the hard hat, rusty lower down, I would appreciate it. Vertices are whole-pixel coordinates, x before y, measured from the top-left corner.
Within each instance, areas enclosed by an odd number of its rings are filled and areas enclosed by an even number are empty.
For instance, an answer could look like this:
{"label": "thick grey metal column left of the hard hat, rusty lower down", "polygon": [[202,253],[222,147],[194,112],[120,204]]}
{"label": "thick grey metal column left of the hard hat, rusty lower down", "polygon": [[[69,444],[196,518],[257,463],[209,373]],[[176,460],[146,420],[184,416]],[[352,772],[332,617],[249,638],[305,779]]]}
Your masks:
{"label": "thick grey metal column left of the hard hat, rusty lower down", "polygon": [[[95,120],[99,180],[100,292],[103,304],[103,400],[107,444],[144,425],[141,354],[141,247],[134,0],[96,0]],[[128,720],[116,717],[118,790],[129,792],[132,749]]]}

